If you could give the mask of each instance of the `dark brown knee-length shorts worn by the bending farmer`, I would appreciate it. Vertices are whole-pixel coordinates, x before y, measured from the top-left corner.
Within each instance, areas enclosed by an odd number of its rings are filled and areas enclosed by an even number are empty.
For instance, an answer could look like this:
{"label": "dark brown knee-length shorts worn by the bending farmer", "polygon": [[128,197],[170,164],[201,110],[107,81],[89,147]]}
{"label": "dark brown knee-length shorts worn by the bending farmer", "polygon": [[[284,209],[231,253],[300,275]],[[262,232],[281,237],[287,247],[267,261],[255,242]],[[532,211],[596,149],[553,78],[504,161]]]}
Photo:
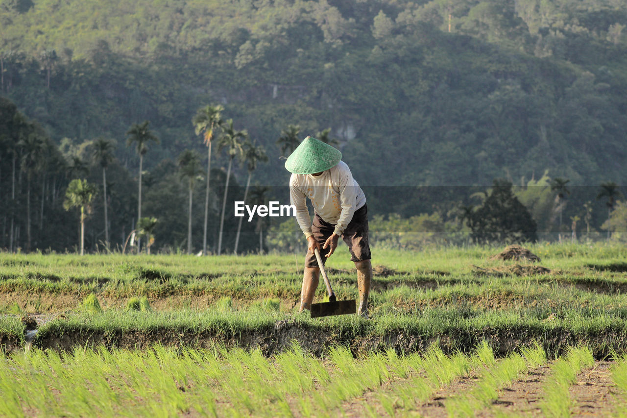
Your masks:
{"label": "dark brown knee-length shorts worn by the bending farmer", "polygon": [[[322,246],[332,235],[334,230],[335,225],[325,222],[316,213],[314,223],[312,223],[312,233],[314,233],[315,240],[320,244],[320,256],[322,257],[323,263],[327,261],[329,248],[323,249]],[[342,233],[342,240],[349,246],[350,261],[370,260],[370,245],[368,244],[368,208],[366,205],[361,206],[361,208],[355,211],[352,220],[350,220],[344,233]],[[305,267],[318,267],[318,261],[315,259],[314,253],[307,251]]]}

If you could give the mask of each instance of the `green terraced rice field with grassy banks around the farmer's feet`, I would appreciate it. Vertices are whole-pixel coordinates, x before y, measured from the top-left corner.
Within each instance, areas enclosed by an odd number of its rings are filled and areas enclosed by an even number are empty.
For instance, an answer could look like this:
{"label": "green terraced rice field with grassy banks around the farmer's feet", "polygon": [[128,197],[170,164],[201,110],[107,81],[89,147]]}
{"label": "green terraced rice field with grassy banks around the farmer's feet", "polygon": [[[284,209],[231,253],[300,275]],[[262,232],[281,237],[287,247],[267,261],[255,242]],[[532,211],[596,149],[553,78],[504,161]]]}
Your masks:
{"label": "green terraced rice field with grassy banks around the farmer's feet", "polygon": [[0,411],[626,416],[627,250],[529,249],[374,252],[369,320],[297,314],[293,254],[0,254]]}

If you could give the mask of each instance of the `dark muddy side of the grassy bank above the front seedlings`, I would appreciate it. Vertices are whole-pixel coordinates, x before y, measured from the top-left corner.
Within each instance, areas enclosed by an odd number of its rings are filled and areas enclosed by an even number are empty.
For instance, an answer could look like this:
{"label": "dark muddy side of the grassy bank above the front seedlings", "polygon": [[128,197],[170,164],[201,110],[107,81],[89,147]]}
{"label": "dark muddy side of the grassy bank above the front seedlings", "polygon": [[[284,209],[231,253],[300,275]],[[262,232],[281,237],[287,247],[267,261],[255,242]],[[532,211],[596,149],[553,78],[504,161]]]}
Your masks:
{"label": "dark muddy side of the grassy bank above the front seedlings", "polygon": [[53,350],[71,350],[73,346],[95,346],[144,349],[160,343],[172,346],[203,348],[216,342],[243,348],[260,348],[266,356],[289,348],[293,340],[303,349],[317,356],[324,355],[334,345],[349,346],[354,353],[384,351],[393,348],[398,353],[423,352],[431,344],[438,343],[443,351],[452,354],[456,350],[472,353],[482,341],[495,348],[498,356],[507,356],[532,341],[539,341],[547,353],[561,355],[568,346],[587,344],[596,358],[608,356],[611,350],[627,351],[627,330],[606,328],[598,333],[574,333],[563,328],[547,329],[542,326],[485,327],[482,329],[452,328],[442,333],[389,330],[382,335],[369,332],[366,324],[361,328],[337,330],[328,326],[312,326],[296,323],[293,319],[278,321],[258,330],[186,330],[162,328],[159,330],[94,331],[87,325],[66,330],[40,331],[34,346]]}

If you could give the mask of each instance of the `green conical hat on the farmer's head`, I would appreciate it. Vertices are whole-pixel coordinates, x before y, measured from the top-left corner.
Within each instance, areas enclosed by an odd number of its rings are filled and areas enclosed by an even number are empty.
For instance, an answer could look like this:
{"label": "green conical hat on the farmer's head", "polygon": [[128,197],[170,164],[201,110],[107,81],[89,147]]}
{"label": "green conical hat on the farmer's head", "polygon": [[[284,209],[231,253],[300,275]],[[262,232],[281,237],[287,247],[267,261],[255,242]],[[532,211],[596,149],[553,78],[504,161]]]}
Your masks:
{"label": "green conical hat on the farmer's head", "polygon": [[314,137],[306,137],[285,161],[290,173],[314,174],[328,170],[342,159],[342,153]]}

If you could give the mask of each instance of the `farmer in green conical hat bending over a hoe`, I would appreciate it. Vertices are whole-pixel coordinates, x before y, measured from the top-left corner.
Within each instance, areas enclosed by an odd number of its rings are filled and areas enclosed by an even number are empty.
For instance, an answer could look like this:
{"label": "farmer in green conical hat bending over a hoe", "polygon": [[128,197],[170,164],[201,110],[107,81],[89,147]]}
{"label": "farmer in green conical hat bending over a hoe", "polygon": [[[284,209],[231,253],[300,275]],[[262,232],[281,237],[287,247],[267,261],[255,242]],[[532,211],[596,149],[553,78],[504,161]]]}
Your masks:
{"label": "farmer in green conical hat bending over a hoe", "polygon": [[[349,247],[350,260],[357,267],[359,314],[367,318],[372,265],[366,196],[341,158],[340,151],[308,136],[285,161],[285,168],[292,173],[290,201],[296,207],[298,225],[307,238],[298,312],[310,309],[318,287],[320,268],[314,249],[320,251],[322,262],[325,262],[337,248],[341,236]],[[310,223],[305,196],[314,206],[314,223]]]}

